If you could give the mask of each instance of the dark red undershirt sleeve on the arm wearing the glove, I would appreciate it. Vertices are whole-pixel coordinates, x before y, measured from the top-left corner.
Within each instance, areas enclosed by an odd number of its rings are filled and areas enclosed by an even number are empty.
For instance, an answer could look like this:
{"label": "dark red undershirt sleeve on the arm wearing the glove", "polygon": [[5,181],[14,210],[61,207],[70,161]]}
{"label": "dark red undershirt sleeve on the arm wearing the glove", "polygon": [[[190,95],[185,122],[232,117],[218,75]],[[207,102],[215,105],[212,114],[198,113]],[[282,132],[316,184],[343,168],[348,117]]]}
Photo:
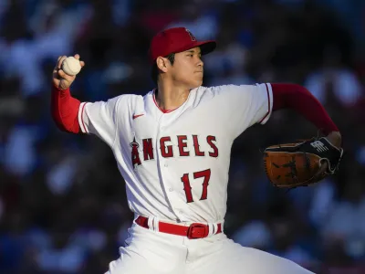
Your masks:
{"label": "dark red undershirt sleeve on the arm wearing the glove", "polygon": [[315,124],[326,135],[339,132],[321,103],[304,87],[296,84],[271,84],[273,111],[290,108]]}

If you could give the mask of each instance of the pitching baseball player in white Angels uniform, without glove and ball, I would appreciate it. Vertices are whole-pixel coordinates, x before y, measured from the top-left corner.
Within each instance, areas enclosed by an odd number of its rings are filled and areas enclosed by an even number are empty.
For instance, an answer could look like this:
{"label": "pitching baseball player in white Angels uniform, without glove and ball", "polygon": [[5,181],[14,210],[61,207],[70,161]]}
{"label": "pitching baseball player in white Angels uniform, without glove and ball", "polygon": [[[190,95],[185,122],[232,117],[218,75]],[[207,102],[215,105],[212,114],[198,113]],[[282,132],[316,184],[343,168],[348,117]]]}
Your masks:
{"label": "pitching baseball player in white Angels uniform, without glove and ball", "polygon": [[[57,126],[95,134],[110,146],[135,214],[110,274],[311,273],[224,235],[230,152],[237,136],[283,108],[298,111],[336,146],[339,130],[298,85],[203,87],[201,57],[215,46],[184,27],[166,29],[151,40],[156,89],[97,102],[71,97],[75,76],[61,69],[65,56],[57,60],[52,85]],[[318,174],[326,173],[326,164],[322,167]]]}

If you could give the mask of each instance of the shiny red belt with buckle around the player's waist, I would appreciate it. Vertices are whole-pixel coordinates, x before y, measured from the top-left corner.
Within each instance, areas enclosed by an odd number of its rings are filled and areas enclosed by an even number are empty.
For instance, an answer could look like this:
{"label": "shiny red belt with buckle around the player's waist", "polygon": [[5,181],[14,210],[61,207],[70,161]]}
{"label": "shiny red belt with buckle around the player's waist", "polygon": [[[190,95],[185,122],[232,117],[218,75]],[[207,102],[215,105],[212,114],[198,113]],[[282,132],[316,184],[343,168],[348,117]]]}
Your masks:
{"label": "shiny red belt with buckle around the player's waist", "polygon": [[[149,226],[148,221],[149,221],[148,217],[145,216],[138,216],[135,219],[135,223],[137,225],[145,228],[152,228]],[[208,237],[209,235],[209,226],[199,223],[193,223],[189,227],[185,227],[181,225],[175,225],[159,221],[158,226],[159,226],[158,231],[162,233],[184,236],[190,239]],[[217,224],[217,229],[216,231],[213,231],[212,234],[219,234],[221,232],[222,232],[222,224]]]}

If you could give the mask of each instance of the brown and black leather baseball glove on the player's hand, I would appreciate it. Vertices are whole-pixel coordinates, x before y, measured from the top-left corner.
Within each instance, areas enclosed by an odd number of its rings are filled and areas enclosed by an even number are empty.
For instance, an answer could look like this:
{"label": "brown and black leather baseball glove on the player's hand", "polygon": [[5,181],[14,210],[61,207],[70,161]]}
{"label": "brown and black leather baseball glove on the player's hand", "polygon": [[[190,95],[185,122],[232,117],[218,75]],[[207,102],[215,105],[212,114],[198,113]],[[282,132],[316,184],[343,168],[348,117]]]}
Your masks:
{"label": "brown and black leather baseball glove on the player's hand", "polygon": [[[334,174],[339,168],[342,153],[342,149],[332,145],[325,137],[272,145],[264,152],[266,174],[277,187],[307,186]],[[316,175],[325,161],[328,163],[327,171]]]}

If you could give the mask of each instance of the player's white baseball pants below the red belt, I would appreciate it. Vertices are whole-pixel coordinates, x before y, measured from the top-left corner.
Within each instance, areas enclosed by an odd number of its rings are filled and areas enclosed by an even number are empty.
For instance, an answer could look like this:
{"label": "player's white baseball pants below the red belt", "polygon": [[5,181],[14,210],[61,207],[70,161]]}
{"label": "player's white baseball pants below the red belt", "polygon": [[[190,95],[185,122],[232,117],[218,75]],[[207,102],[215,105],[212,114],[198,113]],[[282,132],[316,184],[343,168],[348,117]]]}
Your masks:
{"label": "player's white baseball pants below the red belt", "polygon": [[106,274],[310,274],[296,263],[244,248],[223,233],[188,239],[133,225]]}

